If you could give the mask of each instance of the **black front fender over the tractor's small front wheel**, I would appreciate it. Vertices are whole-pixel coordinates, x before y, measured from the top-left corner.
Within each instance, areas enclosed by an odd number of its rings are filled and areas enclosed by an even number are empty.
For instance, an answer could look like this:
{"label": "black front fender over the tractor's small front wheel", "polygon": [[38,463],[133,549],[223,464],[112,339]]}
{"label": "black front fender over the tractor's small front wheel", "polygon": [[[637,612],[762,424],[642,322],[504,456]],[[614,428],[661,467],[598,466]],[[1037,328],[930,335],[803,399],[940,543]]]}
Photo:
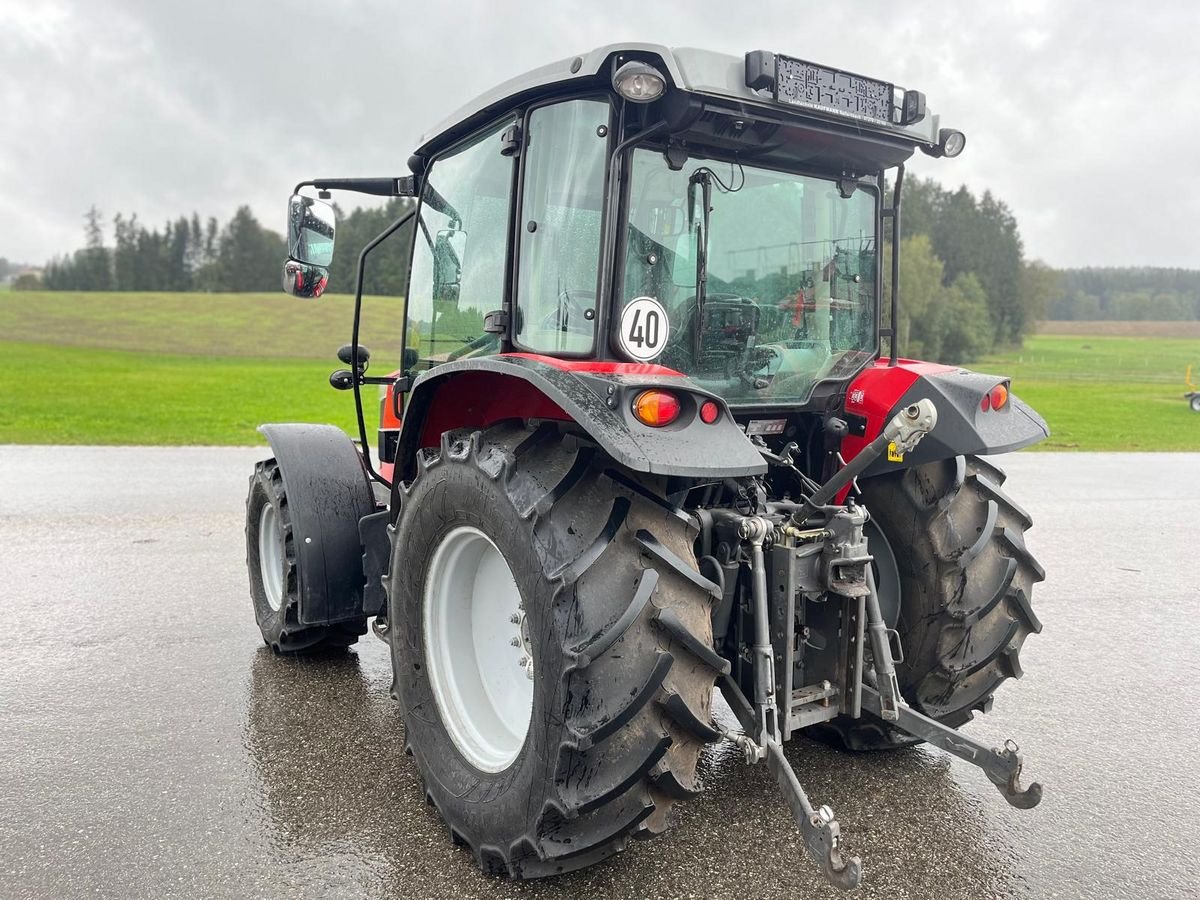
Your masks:
{"label": "black front fender over the tractor's small front wheel", "polygon": [[283,475],[300,623],[328,625],[378,614],[382,588],[365,586],[359,532],[360,520],[376,512],[376,502],[358,449],[332,425],[262,425],[258,430]]}

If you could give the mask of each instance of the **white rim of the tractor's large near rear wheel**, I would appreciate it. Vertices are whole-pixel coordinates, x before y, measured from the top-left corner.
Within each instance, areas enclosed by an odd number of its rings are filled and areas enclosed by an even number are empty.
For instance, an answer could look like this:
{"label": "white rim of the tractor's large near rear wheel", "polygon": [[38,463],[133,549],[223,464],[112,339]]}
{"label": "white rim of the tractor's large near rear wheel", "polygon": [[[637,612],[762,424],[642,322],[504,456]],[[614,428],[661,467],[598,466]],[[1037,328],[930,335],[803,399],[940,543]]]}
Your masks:
{"label": "white rim of the tractor's large near rear wheel", "polygon": [[533,653],[521,592],[491,538],[461,526],[425,580],[425,659],[442,721],[481,772],[512,764],[533,714]]}

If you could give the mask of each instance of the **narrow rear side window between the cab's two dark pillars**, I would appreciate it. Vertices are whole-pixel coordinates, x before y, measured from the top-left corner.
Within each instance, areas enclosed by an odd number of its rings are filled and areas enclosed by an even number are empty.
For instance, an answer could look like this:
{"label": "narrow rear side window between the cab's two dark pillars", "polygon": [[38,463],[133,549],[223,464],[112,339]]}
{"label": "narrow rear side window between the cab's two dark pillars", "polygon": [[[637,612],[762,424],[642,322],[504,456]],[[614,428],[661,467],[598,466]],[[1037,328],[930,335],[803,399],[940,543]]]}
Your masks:
{"label": "narrow rear side window between the cab's two dark pillars", "polygon": [[589,353],[608,103],[574,100],[529,114],[515,341],[539,353]]}

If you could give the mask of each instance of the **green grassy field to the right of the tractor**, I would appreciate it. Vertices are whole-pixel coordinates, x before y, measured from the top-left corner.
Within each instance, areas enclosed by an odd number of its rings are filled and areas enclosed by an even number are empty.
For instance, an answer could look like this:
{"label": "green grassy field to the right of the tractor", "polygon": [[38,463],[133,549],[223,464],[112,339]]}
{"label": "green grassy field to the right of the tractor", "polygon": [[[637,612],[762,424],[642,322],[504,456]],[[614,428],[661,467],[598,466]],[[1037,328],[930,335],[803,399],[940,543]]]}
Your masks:
{"label": "green grassy field to the right of the tractor", "polygon": [[1194,338],[1034,335],[971,367],[1013,377],[1050,425],[1042,449],[1200,450],[1200,415],[1183,400],[1188,365],[1200,377]]}

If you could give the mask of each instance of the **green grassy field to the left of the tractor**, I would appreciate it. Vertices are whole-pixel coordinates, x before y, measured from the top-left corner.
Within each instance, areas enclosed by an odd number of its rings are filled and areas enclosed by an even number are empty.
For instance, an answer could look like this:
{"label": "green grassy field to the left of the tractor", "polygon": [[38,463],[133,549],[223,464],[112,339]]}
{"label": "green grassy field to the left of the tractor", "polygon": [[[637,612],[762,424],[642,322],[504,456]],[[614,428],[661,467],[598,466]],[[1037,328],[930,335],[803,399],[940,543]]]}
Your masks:
{"label": "green grassy field to the left of the tractor", "polygon": [[[403,301],[364,307],[362,343],[386,371]],[[346,295],[2,293],[0,443],[256,444],[260,422],[349,428],[350,397],[328,378],[352,317]]]}

